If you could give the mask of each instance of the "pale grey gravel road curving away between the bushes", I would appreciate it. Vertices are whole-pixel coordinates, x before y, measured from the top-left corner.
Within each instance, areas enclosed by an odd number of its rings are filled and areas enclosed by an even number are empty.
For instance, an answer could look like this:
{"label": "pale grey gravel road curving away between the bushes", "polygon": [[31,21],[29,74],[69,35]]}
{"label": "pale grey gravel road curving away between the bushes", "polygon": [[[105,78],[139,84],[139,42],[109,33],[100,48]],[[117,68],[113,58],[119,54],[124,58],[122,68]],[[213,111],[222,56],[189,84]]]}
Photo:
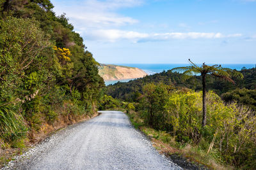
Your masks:
{"label": "pale grey gravel road curving away between the bushes", "polygon": [[71,125],[3,169],[181,169],[157,153],[121,111]]}

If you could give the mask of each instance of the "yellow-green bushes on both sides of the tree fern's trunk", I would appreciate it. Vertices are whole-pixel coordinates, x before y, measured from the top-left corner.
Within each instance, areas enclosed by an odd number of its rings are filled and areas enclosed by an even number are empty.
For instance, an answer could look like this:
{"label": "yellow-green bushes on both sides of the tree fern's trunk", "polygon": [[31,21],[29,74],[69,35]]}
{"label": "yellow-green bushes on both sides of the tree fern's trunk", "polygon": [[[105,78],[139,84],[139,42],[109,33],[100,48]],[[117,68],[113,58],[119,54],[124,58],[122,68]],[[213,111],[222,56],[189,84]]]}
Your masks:
{"label": "yellow-green bushes on both sides of the tree fern's trunk", "polygon": [[201,126],[202,92],[173,91],[165,108],[168,112],[166,129],[176,136],[177,141],[196,145],[204,138],[207,144],[201,146],[203,149],[208,152],[218,150],[225,162],[236,166],[246,161],[252,164],[256,159],[256,117],[246,106],[235,102],[226,104],[217,94],[208,92],[207,125],[204,128]]}

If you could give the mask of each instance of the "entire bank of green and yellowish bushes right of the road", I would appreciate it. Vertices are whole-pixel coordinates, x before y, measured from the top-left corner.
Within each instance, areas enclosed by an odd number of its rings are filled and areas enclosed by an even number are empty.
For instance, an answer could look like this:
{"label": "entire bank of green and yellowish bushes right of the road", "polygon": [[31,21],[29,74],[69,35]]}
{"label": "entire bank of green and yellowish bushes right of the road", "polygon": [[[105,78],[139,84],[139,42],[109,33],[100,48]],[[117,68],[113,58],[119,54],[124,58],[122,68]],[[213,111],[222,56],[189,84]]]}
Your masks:
{"label": "entire bank of green and yellowish bushes right of the road", "polygon": [[[202,92],[165,91],[166,86],[161,83],[143,87],[140,117],[146,124],[172,134],[180,146],[190,144],[215,155],[218,162],[244,169],[250,165],[250,169],[255,169],[256,117],[252,110],[234,102],[225,104],[210,91],[206,101],[208,122],[202,127]],[[149,120],[151,110],[154,111]],[[150,121],[154,122],[153,126]]]}

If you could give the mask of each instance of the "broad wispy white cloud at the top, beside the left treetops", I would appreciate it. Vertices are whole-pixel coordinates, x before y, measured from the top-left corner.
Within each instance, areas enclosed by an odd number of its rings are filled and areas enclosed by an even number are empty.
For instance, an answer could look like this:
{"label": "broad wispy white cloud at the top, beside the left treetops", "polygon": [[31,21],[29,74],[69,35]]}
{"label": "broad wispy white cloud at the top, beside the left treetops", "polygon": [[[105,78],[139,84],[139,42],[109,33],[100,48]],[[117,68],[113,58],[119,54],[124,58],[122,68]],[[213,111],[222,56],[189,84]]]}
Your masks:
{"label": "broad wispy white cloud at the top, beside the left treetops", "polygon": [[67,17],[70,18],[70,22],[80,31],[90,28],[102,29],[137,23],[138,20],[118,15],[115,10],[138,6],[142,4],[143,1],[82,0],[79,3],[72,3],[72,1],[63,3],[60,0],[54,0],[52,3],[56,6],[54,11],[56,11],[57,15],[61,15],[65,11]]}

